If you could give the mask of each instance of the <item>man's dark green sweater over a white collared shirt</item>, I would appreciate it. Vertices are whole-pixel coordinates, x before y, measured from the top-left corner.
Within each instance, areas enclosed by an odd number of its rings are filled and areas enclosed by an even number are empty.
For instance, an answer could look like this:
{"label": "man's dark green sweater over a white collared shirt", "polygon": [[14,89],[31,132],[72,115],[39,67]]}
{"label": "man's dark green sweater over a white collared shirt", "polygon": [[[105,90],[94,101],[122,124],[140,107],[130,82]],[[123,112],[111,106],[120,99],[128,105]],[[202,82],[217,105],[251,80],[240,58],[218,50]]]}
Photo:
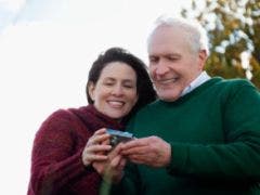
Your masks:
{"label": "man's dark green sweater over a white collared shirt", "polygon": [[260,93],[246,80],[216,77],[174,102],[156,101],[127,130],[170,143],[171,162],[129,165],[115,194],[260,194]]}

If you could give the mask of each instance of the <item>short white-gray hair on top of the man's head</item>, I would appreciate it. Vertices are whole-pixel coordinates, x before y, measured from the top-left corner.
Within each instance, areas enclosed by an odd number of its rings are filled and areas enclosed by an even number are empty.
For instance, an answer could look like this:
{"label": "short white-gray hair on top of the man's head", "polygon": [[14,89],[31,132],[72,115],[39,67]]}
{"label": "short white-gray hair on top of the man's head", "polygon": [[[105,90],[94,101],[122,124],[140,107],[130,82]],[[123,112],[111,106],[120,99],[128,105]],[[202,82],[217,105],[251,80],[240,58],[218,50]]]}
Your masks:
{"label": "short white-gray hair on top of the man's head", "polygon": [[183,29],[183,34],[186,35],[186,41],[191,46],[193,52],[205,50],[207,55],[209,54],[207,32],[197,21],[188,21],[181,17],[170,17],[164,15],[159,16],[155,21],[153,30],[148,36],[147,42],[150,42],[153,32],[161,26]]}

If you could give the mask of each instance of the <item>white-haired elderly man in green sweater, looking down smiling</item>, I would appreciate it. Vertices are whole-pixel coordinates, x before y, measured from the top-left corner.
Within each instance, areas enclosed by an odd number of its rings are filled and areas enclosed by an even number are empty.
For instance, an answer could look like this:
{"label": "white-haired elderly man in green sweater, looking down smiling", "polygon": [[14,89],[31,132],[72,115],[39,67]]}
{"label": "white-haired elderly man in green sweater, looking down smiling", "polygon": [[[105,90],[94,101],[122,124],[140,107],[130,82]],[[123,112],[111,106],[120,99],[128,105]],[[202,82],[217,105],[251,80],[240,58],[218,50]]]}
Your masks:
{"label": "white-haired elderly man in green sweater, looking down smiling", "polygon": [[120,145],[133,164],[115,194],[260,192],[260,93],[203,70],[205,35],[183,20],[157,21],[147,50],[159,100],[128,127],[139,139]]}

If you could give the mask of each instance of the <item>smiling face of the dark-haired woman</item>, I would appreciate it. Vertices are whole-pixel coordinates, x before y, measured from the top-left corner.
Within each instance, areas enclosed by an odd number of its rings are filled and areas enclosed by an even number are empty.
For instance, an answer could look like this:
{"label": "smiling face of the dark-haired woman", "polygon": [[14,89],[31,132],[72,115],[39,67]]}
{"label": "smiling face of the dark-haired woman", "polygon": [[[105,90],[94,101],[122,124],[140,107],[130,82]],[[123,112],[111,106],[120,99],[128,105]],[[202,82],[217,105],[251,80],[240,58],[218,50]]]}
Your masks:
{"label": "smiling face of the dark-haired woman", "polygon": [[129,114],[138,101],[136,74],[122,62],[108,63],[88,89],[95,108],[115,119]]}

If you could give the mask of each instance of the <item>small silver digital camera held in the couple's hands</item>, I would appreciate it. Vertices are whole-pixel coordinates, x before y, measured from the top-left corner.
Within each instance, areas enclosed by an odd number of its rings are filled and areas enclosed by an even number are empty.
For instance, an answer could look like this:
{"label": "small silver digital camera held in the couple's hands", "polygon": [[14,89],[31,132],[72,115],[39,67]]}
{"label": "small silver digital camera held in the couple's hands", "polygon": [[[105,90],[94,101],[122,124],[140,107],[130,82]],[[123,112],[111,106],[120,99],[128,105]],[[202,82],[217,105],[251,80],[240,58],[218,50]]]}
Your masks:
{"label": "small silver digital camera held in the couple's hands", "polygon": [[110,145],[115,147],[120,142],[128,142],[133,139],[133,134],[126,131],[118,131],[114,129],[106,129],[106,132],[110,134]]}

